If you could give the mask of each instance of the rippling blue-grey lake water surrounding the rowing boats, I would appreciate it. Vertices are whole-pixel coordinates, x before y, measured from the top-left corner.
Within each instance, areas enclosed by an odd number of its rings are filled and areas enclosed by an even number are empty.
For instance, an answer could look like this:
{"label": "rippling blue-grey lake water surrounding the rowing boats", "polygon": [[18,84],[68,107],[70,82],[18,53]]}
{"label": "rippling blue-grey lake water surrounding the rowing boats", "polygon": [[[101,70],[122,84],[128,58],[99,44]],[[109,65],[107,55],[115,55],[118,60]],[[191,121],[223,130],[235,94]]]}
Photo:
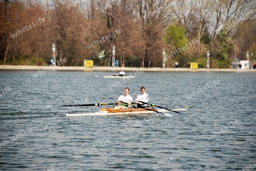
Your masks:
{"label": "rippling blue-grey lake water surrounding the rowing boats", "polygon": [[[255,73],[102,77],[112,73],[0,70],[0,170],[256,169]],[[125,87],[135,99],[141,86],[151,103],[189,115],[66,117],[101,107],[47,107],[114,103]]]}

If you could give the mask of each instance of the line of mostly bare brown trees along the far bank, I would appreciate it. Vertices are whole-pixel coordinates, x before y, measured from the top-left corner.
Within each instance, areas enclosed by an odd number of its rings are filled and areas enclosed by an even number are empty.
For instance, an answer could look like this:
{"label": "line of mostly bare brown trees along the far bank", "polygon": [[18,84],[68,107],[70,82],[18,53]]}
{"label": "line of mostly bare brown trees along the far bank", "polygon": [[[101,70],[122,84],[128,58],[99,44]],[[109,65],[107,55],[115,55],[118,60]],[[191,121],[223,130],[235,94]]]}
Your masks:
{"label": "line of mostly bare brown trees along the far bank", "polygon": [[[112,66],[230,68],[246,53],[256,59],[254,0],[47,0],[0,2],[0,64],[52,57],[62,66],[93,60]],[[102,55],[100,55],[100,53]]]}

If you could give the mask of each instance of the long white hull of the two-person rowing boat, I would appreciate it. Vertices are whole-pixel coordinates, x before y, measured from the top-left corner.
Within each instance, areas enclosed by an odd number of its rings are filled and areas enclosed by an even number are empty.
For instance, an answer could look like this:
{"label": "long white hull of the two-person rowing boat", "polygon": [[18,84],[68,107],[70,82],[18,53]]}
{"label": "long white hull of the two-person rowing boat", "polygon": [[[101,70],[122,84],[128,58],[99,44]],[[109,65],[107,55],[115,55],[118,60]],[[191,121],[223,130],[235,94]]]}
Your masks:
{"label": "long white hull of the two-person rowing boat", "polygon": [[[187,108],[181,109],[171,109],[173,111],[185,111]],[[158,109],[158,112],[172,112],[166,109]],[[155,111],[141,109],[136,111],[134,110],[123,110],[122,112],[109,112],[109,111],[99,111],[94,113],[67,113],[66,116],[110,116],[110,115],[143,115],[143,114],[152,114],[156,113]]]}

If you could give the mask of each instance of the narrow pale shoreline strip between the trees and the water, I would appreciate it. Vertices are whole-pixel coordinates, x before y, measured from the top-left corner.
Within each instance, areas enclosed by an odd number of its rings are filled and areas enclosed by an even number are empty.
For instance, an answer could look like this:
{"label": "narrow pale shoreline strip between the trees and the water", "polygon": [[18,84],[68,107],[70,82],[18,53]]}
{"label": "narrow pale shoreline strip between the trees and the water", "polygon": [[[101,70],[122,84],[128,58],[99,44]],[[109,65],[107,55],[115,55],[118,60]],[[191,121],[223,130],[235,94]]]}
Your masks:
{"label": "narrow pale shoreline strip between the trees and the water", "polygon": [[143,71],[143,72],[256,72],[256,69],[190,69],[190,68],[129,68],[94,66],[85,68],[84,66],[31,66],[31,65],[0,65],[0,70],[70,70],[70,71]]}

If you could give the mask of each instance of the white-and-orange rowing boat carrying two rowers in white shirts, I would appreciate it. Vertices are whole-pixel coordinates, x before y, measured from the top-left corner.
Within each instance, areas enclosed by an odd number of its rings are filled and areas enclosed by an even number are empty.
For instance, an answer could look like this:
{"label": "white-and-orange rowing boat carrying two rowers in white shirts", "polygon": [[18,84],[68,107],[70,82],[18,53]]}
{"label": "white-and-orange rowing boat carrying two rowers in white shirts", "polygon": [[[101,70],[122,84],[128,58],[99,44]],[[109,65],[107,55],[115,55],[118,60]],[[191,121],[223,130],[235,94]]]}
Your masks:
{"label": "white-and-orange rowing boat carrying two rowers in white shirts", "polygon": [[[170,109],[172,111],[185,111],[187,107],[180,109]],[[154,109],[154,108],[131,108],[131,109],[113,109],[113,108],[104,108],[98,112],[85,112],[85,113],[67,113],[66,116],[110,116],[110,115],[143,115],[143,114],[153,114],[156,112],[170,112],[166,109]]]}

